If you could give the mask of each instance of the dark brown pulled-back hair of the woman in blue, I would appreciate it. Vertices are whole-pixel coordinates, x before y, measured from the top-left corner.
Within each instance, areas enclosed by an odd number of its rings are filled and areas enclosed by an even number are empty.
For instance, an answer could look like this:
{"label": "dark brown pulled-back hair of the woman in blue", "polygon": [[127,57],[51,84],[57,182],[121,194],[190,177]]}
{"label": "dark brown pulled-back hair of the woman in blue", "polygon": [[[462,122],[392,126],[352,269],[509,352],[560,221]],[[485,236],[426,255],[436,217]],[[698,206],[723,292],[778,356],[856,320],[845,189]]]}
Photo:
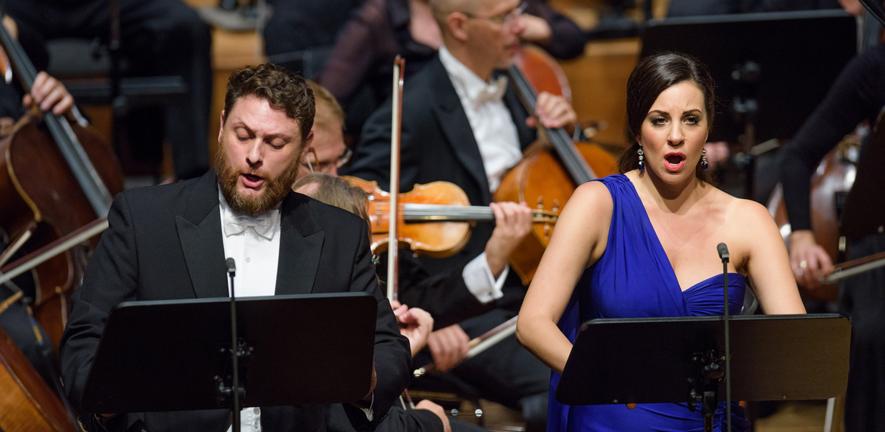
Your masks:
{"label": "dark brown pulled-back hair of the woman in blue", "polygon": [[[661,53],[643,58],[627,79],[627,128],[632,145],[621,155],[621,172],[639,168],[636,151],[639,143],[636,137],[642,130],[642,122],[658,95],[671,86],[683,81],[695,83],[704,94],[704,110],[707,115],[707,128],[713,127],[715,94],[713,78],[707,67],[691,56],[680,53]],[[700,167],[698,167],[700,168]],[[704,178],[701,169],[695,170],[699,178]]]}

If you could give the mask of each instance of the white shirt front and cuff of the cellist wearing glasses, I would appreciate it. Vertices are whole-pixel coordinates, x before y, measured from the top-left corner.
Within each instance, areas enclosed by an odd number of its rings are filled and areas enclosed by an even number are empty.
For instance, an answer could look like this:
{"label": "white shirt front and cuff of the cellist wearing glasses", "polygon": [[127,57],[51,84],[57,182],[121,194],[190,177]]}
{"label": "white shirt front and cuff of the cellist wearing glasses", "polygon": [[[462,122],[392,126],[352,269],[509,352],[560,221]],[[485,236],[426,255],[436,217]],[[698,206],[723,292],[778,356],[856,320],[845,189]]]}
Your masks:
{"label": "white shirt front and cuff of the cellist wearing glasses", "polygon": [[[507,78],[483,81],[444,46],[439,49],[439,60],[452,80],[455,93],[461,100],[461,107],[467,114],[473,138],[482,156],[489,189],[494,192],[501,184],[504,173],[522,159],[516,125],[513,124],[513,117],[503,100]],[[504,295],[501,290],[509,271],[510,267],[505,267],[495,279],[485,253],[482,253],[464,267],[462,276],[467,289],[476,299],[481,303],[488,303]]]}

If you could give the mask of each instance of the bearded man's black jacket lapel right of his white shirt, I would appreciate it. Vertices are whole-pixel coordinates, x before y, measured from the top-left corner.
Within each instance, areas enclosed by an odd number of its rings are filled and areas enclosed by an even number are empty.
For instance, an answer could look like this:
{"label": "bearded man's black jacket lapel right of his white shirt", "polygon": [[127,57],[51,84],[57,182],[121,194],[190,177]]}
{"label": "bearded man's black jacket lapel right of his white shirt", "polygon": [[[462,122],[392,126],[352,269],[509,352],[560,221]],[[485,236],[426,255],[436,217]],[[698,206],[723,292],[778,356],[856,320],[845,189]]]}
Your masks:
{"label": "bearded man's black jacket lapel right of his white shirt", "polygon": [[308,211],[307,198],[290,193],[283,201],[280,218],[280,261],[277,294],[313,291],[325,235]]}

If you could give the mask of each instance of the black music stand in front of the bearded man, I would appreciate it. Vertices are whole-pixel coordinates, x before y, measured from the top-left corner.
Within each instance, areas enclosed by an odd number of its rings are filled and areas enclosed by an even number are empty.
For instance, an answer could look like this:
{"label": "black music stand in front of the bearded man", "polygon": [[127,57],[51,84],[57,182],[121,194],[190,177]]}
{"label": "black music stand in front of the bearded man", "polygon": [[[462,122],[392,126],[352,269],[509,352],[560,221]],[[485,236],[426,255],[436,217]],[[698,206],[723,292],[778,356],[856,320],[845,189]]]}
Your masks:
{"label": "black music stand in front of the bearded man", "polygon": [[[363,398],[376,308],[365,293],[238,298],[239,343],[247,353],[239,361],[240,406]],[[108,319],[81,410],[230,408],[228,314],[227,298],[120,304]]]}

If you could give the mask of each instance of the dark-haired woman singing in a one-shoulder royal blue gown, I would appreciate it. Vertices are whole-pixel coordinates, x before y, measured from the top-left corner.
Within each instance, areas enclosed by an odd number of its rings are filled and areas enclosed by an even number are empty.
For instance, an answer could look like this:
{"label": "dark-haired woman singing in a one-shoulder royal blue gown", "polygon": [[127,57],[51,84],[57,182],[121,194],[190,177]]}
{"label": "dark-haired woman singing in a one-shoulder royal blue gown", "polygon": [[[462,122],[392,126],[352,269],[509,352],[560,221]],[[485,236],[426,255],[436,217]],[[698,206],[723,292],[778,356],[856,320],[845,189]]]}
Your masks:
{"label": "dark-haired woman singing in a one-shoulder royal blue gown", "polygon": [[[805,308],[783,240],[767,210],[704,180],[713,82],[694,59],[640,61],[627,82],[633,146],[621,172],[581,185],[556,224],[519,313],[519,340],[553,369],[549,431],[702,431],[685,404],[568,406],[554,396],[578,326],[593,318],[718,315],[725,242],[729,310],[752,281],[768,314]],[[740,409],[733,430],[747,430]],[[725,430],[725,407],[714,417]]]}

